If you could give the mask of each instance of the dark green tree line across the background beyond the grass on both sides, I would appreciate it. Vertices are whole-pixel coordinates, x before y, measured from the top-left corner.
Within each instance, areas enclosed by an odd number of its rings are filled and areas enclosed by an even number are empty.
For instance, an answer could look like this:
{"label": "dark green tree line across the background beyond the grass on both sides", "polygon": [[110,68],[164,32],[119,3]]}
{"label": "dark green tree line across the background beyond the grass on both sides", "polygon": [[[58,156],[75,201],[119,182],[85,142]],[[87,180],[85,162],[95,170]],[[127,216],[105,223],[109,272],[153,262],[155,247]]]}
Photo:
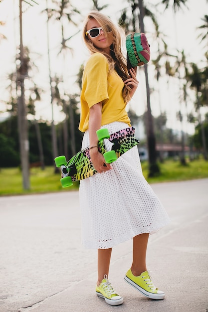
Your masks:
{"label": "dark green tree line across the background beyond the grass on both sides", "polygon": [[[75,127],[75,151],[78,152],[81,147],[82,133],[79,132],[79,114],[76,109],[74,110],[74,127]],[[144,124],[147,116],[137,116],[134,112],[129,112],[130,118],[133,122],[138,123],[138,118]],[[160,115],[157,118],[153,118],[154,131],[156,136],[156,142],[162,144],[180,145],[181,137],[179,133],[175,133],[173,129],[166,127],[167,117],[166,115]],[[185,133],[185,145],[189,146],[192,150],[201,153],[203,151],[202,141],[202,125],[196,126],[195,134],[189,136]],[[63,123],[60,122],[55,126],[58,142],[58,151],[60,155],[64,155],[64,136],[63,136]],[[19,154],[19,137],[16,131],[17,129],[17,116],[14,115],[9,119],[0,123],[0,163],[1,167],[16,167],[21,166],[20,154]],[[68,120],[68,129],[70,129],[70,120]],[[161,129],[163,132],[163,138],[161,137]],[[208,116],[206,116],[204,122],[204,129],[206,134],[206,144],[208,146]],[[29,141],[29,167],[41,167],[44,169],[47,165],[54,165],[51,143],[51,124],[45,121],[28,121],[28,141]],[[70,131],[68,131],[68,159],[73,156],[71,149]],[[162,139],[162,141],[161,141]],[[146,146],[146,140],[140,140],[140,146]],[[163,154],[160,155],[160,161],[164,161]]]}

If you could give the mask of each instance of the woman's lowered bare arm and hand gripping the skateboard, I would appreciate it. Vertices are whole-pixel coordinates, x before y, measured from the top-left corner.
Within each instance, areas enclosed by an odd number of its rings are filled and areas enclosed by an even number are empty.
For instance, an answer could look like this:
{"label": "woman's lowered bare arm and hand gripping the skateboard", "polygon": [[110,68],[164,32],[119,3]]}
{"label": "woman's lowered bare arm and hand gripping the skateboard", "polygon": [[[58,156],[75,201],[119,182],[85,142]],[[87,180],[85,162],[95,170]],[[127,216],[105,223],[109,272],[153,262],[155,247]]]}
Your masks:
{"label": "woman's lowered bare arm and hand gripping the skateboard", "polygon": [[[99,102],[90,108],[89,113],[90,147],[98,145],[96,131],[101,127],[101,120],[102,120],[102,102]],[[93,148],[90,150],[90,156],[95,170],[98,171],[99,173],[112,169],[111,165],[105,162],[103,155],[98,152],[97,148]]]}

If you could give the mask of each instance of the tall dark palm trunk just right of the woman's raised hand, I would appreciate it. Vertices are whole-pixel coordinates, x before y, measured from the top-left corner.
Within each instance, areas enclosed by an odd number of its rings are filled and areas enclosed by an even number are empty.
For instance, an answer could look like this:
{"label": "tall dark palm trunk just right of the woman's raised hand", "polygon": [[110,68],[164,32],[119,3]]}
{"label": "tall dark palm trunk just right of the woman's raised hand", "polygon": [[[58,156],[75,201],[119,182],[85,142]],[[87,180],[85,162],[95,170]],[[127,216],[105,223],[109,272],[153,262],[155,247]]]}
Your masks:
{"label": "tall dark palm trunk just right of the woman's raised hand", "polygon": [[[144,29],[144,7],[143,0],[139,0],[139,21],[141,32],[145,32]],[[147,91],[147,145],[149,153],[149,177],[155,176],[160,173],[160,168],[157,164],[157,153],[156,153],[156,139],[153,128],[153,117],[150,105],[150,86],[148,80],[148,70],[147,64],[144,65],[145,68],[145,80],[146,80],[146,91]]]}

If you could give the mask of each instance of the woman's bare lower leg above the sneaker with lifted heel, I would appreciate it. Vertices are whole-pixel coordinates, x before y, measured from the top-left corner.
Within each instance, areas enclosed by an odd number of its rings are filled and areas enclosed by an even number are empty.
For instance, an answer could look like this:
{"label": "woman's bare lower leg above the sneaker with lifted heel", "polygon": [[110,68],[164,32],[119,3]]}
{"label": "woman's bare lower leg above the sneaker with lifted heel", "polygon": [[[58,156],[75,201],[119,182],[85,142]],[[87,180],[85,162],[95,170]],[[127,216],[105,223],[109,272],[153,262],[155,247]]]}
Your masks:
{"label": "woman's bare lower leg above the sneaker with lifted heel", "polygon": [[139,276],[147,271],[146,251],[149,233],[140,234],[133,238],[133,263],[131,267],[132,274]]}

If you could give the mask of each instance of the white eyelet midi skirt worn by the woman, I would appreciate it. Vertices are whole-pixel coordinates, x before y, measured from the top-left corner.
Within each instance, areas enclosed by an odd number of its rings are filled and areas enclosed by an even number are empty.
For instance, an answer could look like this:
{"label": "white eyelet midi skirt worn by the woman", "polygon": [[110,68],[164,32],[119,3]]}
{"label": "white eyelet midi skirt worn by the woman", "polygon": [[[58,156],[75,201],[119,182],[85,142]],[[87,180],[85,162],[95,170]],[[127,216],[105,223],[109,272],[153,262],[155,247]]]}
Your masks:
{"label": "white eyelet midi skirt worn by the woman", "polygon": [[[111,134],[128,125],[114,122],[101,128],[108,128]],[[88,146],[86,131],[82,149]],[[86,248],[111,248],[138,234],[153,234],[170,223],[142,174],[137,147],[120,156],[112,167],[80,181],[82,243]]]}

